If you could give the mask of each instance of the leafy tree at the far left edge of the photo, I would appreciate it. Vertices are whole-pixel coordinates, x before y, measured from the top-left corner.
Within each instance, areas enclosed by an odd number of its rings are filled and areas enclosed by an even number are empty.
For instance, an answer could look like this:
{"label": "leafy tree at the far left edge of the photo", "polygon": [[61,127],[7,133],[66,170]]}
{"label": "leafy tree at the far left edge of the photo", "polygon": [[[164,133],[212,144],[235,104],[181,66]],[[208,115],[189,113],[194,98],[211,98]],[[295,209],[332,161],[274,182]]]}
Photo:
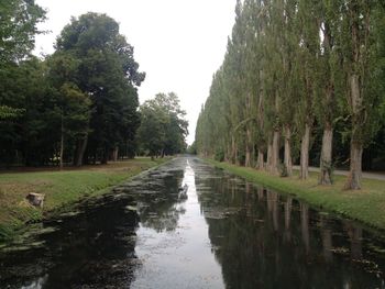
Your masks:
{"label": "leafy tree at the far left edge of the photo", "polygon": [[7,163],[20,158],[20,123],[26,110],[24,98],[30,93],[21,89],[28,84],[20,77],[24,76],[24,60],[34,47],[34,36],[40,33],[36,24],[44,19],[45,11],[33,0],[0,2],[0,159]]}

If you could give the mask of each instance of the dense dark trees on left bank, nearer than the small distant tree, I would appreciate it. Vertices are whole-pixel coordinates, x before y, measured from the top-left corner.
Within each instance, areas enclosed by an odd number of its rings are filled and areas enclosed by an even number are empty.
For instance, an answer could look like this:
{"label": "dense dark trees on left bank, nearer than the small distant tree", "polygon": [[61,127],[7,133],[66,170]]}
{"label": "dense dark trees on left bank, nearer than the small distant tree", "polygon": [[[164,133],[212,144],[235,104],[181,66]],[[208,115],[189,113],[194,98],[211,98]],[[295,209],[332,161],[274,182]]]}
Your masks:
{"label": "dense dark trees on left bank, nearer than the small distant tree", "polygon": [[[73,18],[55,52],[41,59],[31,51],[45,11],[34,1],[6,0],[0,14],[0,166],[80,166],[154,154],[136,137],[145,74],[117,21],[91,12]],[[182,151],[184,136],[172,149],[162,143],[163,152]]]}

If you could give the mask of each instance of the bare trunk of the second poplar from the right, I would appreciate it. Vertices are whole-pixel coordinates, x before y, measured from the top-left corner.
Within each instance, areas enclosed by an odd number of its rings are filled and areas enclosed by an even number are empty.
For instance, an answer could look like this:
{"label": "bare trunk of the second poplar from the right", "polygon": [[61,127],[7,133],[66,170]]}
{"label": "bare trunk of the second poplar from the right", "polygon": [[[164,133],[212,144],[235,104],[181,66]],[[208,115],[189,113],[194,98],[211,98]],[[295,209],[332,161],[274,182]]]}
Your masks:
{"label": "bare trunk of the second poplar from the right", "polygon": [[320,159],[319,185],[331,185],[331,157],[332,157],[333,129],[328,122],[323,129],[322,148]]}

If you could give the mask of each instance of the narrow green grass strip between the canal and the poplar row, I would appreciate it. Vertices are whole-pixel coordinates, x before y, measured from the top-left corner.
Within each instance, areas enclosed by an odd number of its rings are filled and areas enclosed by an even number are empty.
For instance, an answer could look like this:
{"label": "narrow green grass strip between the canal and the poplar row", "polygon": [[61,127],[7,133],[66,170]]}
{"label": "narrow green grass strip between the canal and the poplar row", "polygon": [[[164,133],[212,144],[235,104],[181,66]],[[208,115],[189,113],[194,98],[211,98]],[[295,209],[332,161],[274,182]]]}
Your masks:
{"label": "narrow green grass strip between the canal and the poplar row", "polygon": [[211,165],[241,176],[249,181],[283,193],[290,193],[298,199],[330,212],[343,214],[371,226],[385,229],[385,181],[364,179],[363,190],[343,190],[345,177],[336,176],[332,186],[318,186],[318,174],[311,173],[306,181],[298,175],[289,178],[272,176],[253,168],[239,167],[227,163],[207,159]]}

